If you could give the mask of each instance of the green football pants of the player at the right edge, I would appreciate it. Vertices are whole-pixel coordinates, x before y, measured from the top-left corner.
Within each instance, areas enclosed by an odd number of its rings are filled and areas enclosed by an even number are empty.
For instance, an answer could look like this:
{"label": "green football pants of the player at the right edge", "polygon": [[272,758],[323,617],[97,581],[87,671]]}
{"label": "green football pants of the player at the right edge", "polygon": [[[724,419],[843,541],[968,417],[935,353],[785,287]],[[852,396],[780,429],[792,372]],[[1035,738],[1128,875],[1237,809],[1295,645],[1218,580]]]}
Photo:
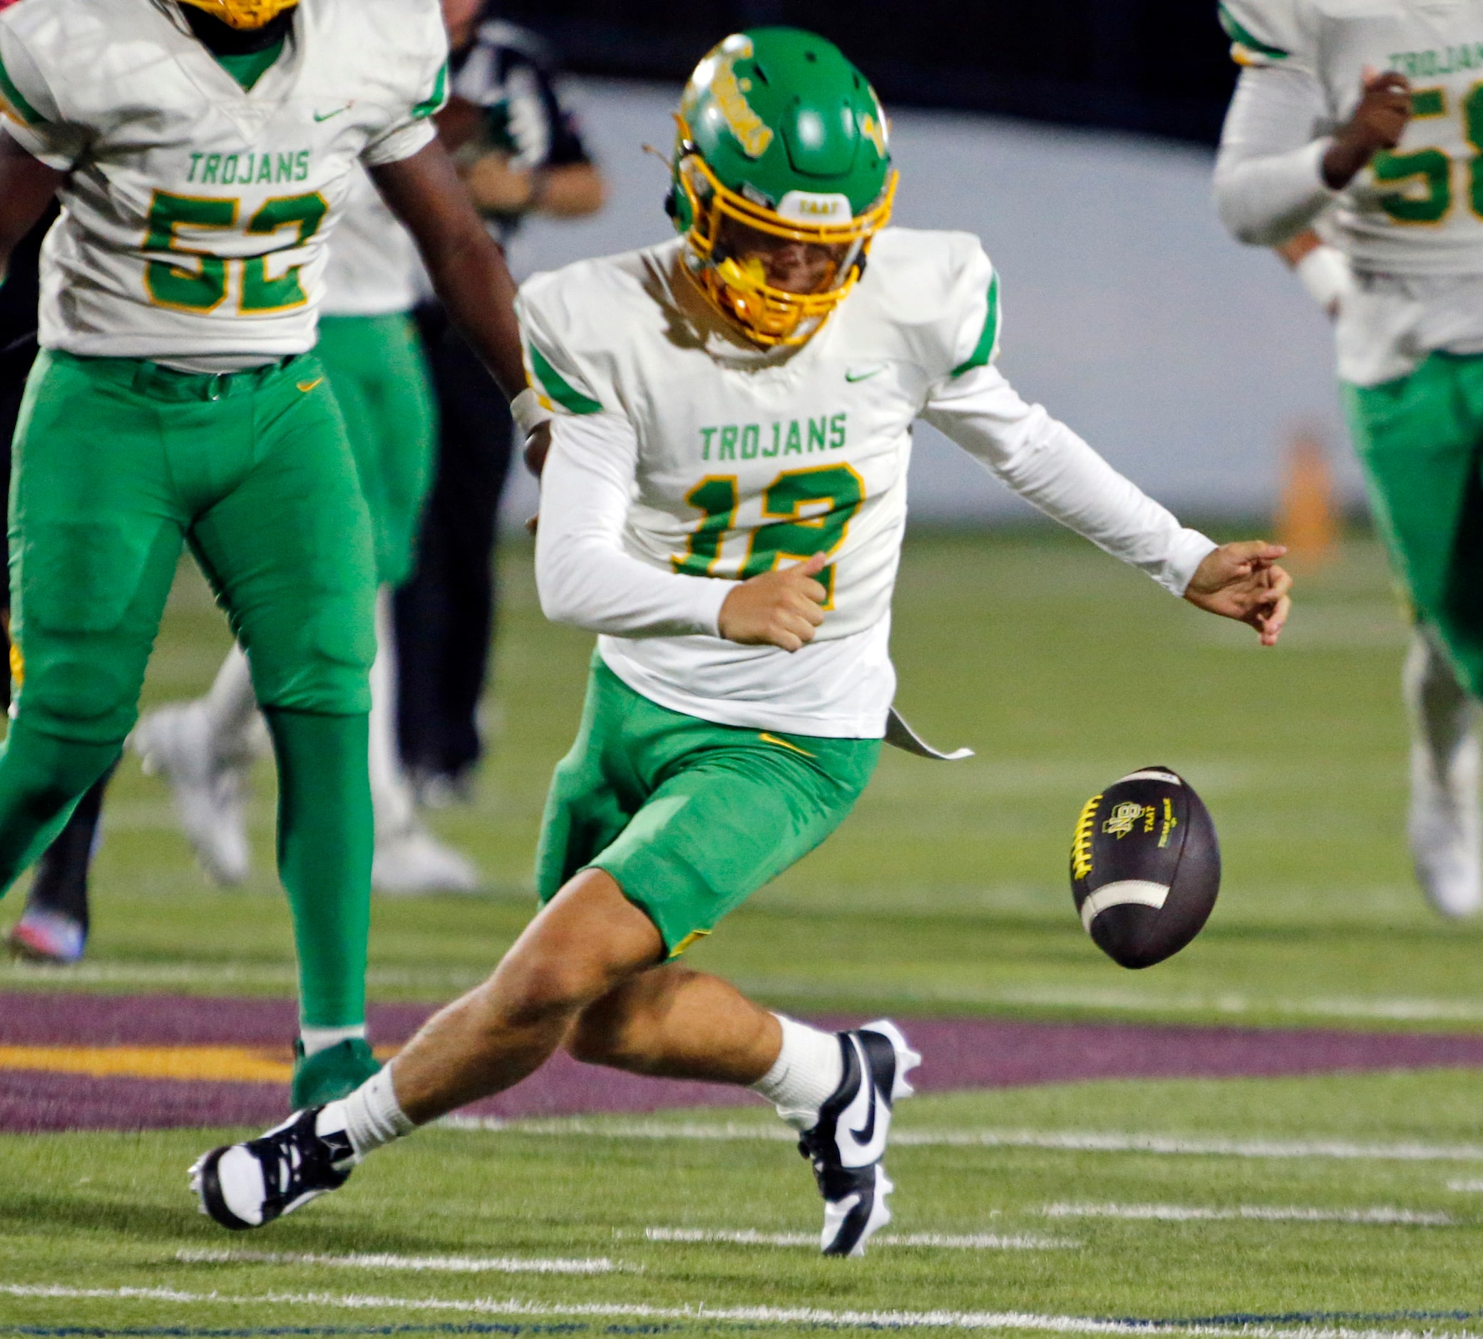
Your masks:
{"label": "green football pants of the player at the right edge", "polygon": [[1416,618],[1483,698],[1483,356],[1433,353],[1382,386],[1345,386],[1370,504]]}

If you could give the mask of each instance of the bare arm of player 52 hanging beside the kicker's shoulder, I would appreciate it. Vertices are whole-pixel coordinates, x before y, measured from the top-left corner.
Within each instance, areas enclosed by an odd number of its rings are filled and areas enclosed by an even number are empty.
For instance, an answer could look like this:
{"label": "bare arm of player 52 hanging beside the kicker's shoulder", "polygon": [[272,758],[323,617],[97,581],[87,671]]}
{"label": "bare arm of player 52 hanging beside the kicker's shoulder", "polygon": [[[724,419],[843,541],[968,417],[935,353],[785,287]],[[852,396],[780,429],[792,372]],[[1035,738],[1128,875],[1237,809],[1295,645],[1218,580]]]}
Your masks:
{"label": "bare arm of player 52 hanging beside the kicker's shoulder", "polygon": [[475,212],[448,151],[433,141],[400,163],[371,169],[377,188],[417,239],[454,325],[513,400],[525,390],[515,280]]}

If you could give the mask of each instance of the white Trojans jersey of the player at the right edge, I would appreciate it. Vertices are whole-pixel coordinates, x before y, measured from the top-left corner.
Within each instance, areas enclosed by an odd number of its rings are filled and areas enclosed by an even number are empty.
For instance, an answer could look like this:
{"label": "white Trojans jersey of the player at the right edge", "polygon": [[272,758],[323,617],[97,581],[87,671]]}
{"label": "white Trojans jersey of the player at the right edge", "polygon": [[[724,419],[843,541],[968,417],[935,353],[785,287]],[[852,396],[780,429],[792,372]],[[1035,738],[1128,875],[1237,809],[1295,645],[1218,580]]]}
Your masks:
{"label": "white Trojans jersey of the player at the right edge", "polygon": [[1361,271],[1483,273],[1483,0],[1221,0],[1243,65],[1302,71],[1344,125],[1367,68],[1412,85],[1394,153],[1339,193],[1335,240]]}

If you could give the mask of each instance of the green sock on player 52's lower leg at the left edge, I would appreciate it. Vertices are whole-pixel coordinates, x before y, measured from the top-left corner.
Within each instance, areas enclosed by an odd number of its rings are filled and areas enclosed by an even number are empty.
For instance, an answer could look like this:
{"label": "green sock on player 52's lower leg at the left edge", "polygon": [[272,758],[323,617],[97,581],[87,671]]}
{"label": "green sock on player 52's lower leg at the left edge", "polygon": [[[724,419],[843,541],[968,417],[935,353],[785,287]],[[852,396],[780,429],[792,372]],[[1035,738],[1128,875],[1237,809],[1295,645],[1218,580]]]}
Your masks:
{"label": "green sock on player 52's lower leg at the left edge", "polygon": [[0,897],[56,839],[122,749],[42,734],[24,715],[10,722],[0,746]]}

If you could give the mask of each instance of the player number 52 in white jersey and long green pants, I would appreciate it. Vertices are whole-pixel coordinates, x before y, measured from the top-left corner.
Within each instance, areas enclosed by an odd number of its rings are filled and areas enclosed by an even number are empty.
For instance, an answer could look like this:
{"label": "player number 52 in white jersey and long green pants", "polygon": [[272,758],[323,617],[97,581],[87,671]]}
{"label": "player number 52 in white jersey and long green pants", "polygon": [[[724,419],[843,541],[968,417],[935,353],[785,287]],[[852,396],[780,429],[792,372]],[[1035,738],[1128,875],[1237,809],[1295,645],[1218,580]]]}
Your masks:
{"label": "player number 52 in white jersey and long green pants", "polygon": [[521,389],[513,288],[435,142],[436,0],[21,0],[0,15],[0,262],[59,196],[15,440],[16,698],[0,888],[119,756],[182,543],[279,761],[300,955],[295,1105],[365,1042],[375,555],[314,344],[356,163]]}

